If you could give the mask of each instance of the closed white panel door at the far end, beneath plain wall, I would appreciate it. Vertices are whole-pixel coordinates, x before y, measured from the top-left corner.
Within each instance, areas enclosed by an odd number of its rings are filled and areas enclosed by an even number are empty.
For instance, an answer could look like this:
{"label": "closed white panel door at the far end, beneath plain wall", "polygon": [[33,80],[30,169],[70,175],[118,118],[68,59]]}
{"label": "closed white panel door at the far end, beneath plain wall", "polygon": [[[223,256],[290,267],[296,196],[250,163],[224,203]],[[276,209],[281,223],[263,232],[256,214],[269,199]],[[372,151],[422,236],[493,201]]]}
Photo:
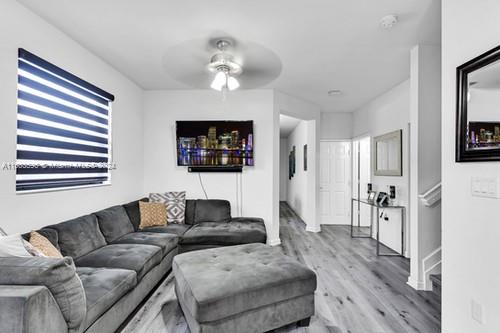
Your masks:
{"label": "closed white panel door at the far end, beneath plain wall", "polygon": [[351,214],[351,142],[320,143],[320,219],[349,224]]}

